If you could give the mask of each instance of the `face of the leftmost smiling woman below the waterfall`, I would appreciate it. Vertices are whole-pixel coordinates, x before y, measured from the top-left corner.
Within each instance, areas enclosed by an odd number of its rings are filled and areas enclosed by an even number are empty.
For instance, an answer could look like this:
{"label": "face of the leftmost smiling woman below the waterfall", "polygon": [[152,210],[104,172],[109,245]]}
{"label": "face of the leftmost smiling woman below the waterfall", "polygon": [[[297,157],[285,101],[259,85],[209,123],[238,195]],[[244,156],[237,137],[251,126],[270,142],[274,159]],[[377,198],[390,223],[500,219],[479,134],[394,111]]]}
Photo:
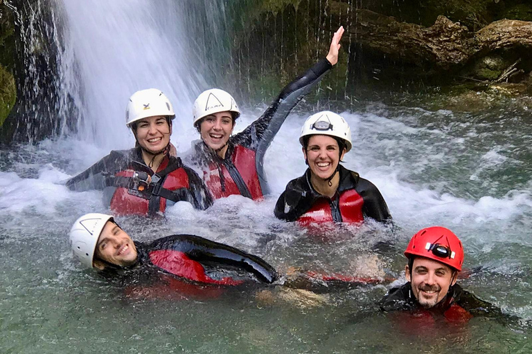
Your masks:
{"label": "face of the leftmost smiling woman below the waterfall", "polygon": [[136,124],[136,141],[145,150],[157,153],[170,143],[172,127],[168,125],[166,117],[155,115],[143,118]]}

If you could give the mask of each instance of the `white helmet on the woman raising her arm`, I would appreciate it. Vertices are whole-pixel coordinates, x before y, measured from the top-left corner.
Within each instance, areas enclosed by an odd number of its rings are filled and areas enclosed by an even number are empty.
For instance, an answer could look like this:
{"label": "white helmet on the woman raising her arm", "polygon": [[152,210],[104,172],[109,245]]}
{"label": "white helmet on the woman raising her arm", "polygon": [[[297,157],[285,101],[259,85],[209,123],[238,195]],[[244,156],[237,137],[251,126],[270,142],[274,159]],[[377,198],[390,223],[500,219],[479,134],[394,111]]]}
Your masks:
{"label": "white helmet on the woman raising her arm", "polygon": [[192,124],[195,127],[197,121],[207,115],[226,111],[236,113],[235,119],[240,115],[240,110],[233,96],[219,88],[203,91],[194,102],[192,110],[194,120]]}

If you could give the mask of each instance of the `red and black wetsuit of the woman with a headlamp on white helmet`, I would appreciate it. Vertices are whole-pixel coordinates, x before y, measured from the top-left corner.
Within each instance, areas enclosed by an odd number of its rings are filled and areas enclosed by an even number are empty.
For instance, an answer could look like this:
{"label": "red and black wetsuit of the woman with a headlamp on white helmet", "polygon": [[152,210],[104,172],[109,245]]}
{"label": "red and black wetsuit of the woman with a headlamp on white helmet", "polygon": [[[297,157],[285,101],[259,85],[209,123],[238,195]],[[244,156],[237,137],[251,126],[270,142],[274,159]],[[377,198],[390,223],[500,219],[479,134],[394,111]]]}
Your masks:
{"label": "red and black wetsuit of the woman with a headlamp on white helmet", "polygon": [[328,221],[361,223],[365,217],[384,222],[391,215],[379,190],[373,183],[353,171],[338,166],[340,176],[337,193],[328,198],[316,192],[310,183],[310,169],[291,180],[275,205],[275,216],[302,225]]}

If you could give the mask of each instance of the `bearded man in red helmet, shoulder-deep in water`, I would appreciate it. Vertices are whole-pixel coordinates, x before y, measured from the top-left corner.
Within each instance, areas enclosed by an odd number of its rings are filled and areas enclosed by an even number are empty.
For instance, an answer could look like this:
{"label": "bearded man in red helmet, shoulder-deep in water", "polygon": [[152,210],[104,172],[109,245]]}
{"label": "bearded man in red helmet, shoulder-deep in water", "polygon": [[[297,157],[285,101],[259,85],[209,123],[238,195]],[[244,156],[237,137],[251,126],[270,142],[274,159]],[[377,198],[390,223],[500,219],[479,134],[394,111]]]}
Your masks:
{"label": "bearded man in red helmet, shoulder-deep in water", "polygon": [[443,315],[449,322],[467,322],[477,315],[507,317],[456,283],[463,246],[451,230],[440,226],[420,230],[411,238],[405,256],[407,283],[389,290],[380,301],[381,310],[403,310],[416,317]]}

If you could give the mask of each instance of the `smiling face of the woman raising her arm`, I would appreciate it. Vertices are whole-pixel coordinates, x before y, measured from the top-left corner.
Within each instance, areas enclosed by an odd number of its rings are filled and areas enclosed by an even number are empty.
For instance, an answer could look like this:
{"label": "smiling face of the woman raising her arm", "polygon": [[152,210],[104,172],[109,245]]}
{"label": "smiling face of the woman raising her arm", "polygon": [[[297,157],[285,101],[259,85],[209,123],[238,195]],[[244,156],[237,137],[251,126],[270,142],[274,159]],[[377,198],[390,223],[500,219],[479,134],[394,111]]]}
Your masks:
{"label": "smiling face of the woman raising her arm", "polygon": [[207,115],[199,123],[202,140],[213,150],[224,147],[233,132],[233,115],[231,112],[218,112]]}

